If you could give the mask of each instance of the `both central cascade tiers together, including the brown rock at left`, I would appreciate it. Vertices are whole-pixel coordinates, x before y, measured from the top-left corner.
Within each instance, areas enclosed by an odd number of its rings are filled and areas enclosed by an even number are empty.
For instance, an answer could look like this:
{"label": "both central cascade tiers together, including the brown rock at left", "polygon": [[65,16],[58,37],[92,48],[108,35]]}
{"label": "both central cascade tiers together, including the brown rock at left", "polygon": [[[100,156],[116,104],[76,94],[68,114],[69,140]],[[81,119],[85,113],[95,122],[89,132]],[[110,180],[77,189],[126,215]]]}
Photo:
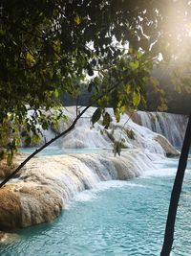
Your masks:
{"label": "both central cascade tiers together, including the brown rock at left", "polygon": [[[178,153],[162,135],[139,126],[127,114],[121,115],[117,123],[110,108],[106,109],[112,117],[110,128],[103,128],[102,120],[93,128],[91,117],[95,110],[91,107],[75,128],[56,142],[63,149],[87,148],[90,153],[34,157],[17,178],[0,190],[0,227],[51,221],[78,192],[96,188],[100,181],[127,180],[154,170],[153,161]],[[69,122],[61,122],[57,132],[69,127],[75,118],[75,107],[66,111]],[[53,130],[49,131],[50,136]],[[111,150],[117,142],[123,150],[115,157]],[[93,148],[110,152],[91,153]],[[22,161],[23,156],[17,156],[17,164]]]}

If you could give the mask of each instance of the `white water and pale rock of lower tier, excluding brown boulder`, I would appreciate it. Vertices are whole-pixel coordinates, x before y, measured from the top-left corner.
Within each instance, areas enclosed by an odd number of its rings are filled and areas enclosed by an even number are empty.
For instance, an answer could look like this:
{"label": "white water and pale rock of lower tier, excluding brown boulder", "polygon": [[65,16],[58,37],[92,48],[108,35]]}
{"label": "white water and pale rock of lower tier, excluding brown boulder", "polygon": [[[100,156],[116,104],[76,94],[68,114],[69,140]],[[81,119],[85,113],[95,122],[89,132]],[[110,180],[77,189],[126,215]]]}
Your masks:
{"label": "white water and pale rock of lower tier, excluding brown boulder", "polygon": [[138,150],[124,151],[117,157],[113,153],[80,153],[32,160],[20,179],[25,185],[49,186],[65,205],[75,194],[95,188],[100,181],[129,179],[151,168],[150,158]]}

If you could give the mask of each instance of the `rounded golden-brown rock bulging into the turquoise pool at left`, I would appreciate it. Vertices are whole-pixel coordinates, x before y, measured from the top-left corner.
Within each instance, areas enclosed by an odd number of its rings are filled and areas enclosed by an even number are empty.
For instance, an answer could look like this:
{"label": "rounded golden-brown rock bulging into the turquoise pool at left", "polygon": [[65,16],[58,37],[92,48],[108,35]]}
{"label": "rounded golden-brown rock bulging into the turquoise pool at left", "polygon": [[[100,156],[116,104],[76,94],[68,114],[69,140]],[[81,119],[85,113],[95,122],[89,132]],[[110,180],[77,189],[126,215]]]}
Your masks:
{"label": "rounded golden-brown rock bulging into the turquoise pool at left", "polygon": [[12,230],[52,221],[62,208],[62,199],[47,186],[19,182],[0,189],[0,229]]}

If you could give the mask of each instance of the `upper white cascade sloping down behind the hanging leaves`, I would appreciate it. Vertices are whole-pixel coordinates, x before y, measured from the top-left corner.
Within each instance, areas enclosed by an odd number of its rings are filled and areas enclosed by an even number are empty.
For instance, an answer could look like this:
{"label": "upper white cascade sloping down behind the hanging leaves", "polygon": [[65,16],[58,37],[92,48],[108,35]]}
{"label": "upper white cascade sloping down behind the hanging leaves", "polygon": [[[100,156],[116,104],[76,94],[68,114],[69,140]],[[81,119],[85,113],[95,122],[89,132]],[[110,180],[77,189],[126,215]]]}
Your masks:
{"label": "upper white cascade sloping down behind the hanging leaves", "polygon": [[[112,149],[114,143],[119,141],[122,148],[125,149],[142,149],[142,151],[149,151],[150,153],[165,154],[165,150],[159,144],[159,140],[156,140],[156,133],[148,128],[140,127],[127,114],[121,115],[120,121],[117,123],[111,108],[106,109],[112,117],[110,127],[103,128],[102,120],[99,120],[93,128],[91,117],[95,110],[96,107],[90,107],[79,119],[75,128],[57,141],[57,146],[63,149]],[[75,107],[67,107],[66,115],[69,118],[69,123],[61,122],[58,132],[63,131],[73,122]]]}

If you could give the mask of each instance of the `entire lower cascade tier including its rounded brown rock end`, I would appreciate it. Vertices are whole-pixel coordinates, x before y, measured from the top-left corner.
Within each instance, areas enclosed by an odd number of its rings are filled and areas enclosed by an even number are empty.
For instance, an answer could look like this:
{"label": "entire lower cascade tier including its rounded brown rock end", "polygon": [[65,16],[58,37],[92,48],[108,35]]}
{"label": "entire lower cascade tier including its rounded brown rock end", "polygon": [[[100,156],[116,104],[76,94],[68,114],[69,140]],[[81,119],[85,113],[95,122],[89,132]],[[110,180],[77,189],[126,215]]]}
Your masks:
{"label": "entire lower cascade tier including its rounded brown rock end", "polygon": [[154,166],[149,154],[140,150],[122,151],[117,157],[107,152],[32,158],[0,191],[0,226],[11,229],[51,221],[78,192],[150,169]]}

